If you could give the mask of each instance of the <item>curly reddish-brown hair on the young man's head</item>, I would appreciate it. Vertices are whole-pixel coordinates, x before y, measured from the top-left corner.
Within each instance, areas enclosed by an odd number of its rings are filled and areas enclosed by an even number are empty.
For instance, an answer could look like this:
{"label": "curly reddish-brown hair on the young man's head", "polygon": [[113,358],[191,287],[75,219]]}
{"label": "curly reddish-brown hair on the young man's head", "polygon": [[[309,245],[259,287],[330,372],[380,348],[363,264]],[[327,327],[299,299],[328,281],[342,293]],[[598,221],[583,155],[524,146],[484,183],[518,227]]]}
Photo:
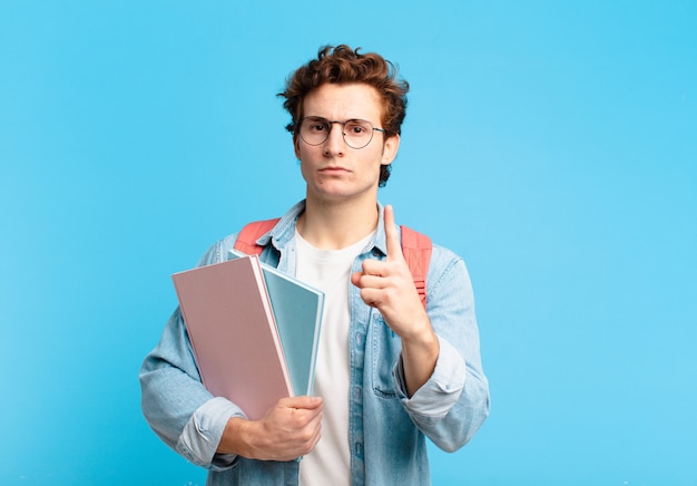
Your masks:
{"label": "curly reddish-brown hair on the young man's head", "polygon": [[[286,80],[283,107],[291,114],[292,122],[286,129],[294,136],[297,124],[303,118],[303,101],[310,91],[325,82],[363,82],[374,87],[383,101],[382,127],[385,137],[400,135],[406,115],[406,93],[409,82],[397,79],[395,65],[375,52],[360,54],[361,48],[346,45],[320,48],[317,58],[301,66]],[[380,169],[380,187],[390,178],[392,165]]]}

